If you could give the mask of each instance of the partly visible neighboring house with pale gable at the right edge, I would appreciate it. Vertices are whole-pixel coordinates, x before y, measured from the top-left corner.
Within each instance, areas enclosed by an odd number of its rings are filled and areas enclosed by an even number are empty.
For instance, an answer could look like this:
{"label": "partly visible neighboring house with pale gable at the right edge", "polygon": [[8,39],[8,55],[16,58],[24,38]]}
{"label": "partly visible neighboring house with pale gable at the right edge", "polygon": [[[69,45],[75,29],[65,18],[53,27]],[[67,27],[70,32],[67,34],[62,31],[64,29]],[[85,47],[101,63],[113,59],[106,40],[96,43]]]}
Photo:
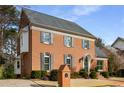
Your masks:
{"label": "partly visible neighboring house with pale gable at the right edge", "polygon": [[124,38],[118,37],[112,47],[116,49],[117,69],[124,71]]}

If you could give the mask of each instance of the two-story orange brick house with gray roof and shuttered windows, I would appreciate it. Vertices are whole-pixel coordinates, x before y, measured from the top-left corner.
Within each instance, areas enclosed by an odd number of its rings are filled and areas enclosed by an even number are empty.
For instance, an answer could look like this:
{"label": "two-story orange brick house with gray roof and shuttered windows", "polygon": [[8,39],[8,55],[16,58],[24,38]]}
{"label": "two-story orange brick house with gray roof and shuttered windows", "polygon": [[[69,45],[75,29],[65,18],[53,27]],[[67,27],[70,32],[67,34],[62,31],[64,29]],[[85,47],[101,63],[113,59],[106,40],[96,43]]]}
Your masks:
{"label": "two-story orange brick house with gray roof and shuttered windows", "polygon": [[21,74],[58,69],[67,64],[72,71],[98,67],[108,70],[106,56],[95,47],[95,37],[78,24],[23,9],[20,19],[18,56]]}

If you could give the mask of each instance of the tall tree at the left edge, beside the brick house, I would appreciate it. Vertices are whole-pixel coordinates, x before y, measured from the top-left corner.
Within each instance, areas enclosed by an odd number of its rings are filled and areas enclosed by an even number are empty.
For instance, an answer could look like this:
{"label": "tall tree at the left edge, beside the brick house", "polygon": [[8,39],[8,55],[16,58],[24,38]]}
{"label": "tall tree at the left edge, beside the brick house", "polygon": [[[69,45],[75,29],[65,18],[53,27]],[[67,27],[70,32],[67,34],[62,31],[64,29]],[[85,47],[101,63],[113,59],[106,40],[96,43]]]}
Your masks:
{"label": "tall tree at the left edge, beside the brick house", "polygon": [[[0,55],[13,56],[16,48],[19,12],[15,6],[0,6]],[[15,55],[15,54],[14,54]],[[11,61],[11,60],[10,60]]]}

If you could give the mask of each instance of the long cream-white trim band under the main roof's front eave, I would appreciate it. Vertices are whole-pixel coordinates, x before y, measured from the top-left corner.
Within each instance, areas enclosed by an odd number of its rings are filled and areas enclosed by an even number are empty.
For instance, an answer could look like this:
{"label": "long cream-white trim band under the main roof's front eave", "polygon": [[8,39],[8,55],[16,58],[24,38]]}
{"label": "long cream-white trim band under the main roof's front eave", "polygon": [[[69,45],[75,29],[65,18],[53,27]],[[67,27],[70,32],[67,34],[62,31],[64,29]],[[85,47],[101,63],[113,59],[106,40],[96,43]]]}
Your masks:
{"label": "long cream-white trim band under the main roof's front eave", "polygon": [[49,30],[49,29],[46,29],[46,28],[40,28],[40,27],[36,27],[36,26],[31,26],[31,29],[32,30],[37,30],[37,31],[50,32],[50,33],[64,35],[64,36],[70,36],[70,37],[84,39],[84,40],[95,41],[95,39],[92,39],[92,38],[78,36],[78,35],[73,35],[73,34],[68,34],[68,33],[64,33],[64,32],[58,32],[58,31],[55,31],[55,30]]}

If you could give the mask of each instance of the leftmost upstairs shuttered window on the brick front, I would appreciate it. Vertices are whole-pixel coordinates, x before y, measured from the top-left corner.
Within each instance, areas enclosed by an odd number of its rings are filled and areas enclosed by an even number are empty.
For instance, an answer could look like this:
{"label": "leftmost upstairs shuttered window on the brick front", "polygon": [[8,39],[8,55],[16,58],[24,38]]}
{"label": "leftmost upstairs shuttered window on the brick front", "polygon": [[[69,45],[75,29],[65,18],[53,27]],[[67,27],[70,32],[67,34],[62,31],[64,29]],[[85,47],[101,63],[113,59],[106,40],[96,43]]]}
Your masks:
{"label": "leftmost upstairs shuttered window on the brick front", "polygon": [[42,42],[45,44],[51,44],[52,43],[51,33],[49,33],[49,32],[42,32],[41,39],[42,39]]}

